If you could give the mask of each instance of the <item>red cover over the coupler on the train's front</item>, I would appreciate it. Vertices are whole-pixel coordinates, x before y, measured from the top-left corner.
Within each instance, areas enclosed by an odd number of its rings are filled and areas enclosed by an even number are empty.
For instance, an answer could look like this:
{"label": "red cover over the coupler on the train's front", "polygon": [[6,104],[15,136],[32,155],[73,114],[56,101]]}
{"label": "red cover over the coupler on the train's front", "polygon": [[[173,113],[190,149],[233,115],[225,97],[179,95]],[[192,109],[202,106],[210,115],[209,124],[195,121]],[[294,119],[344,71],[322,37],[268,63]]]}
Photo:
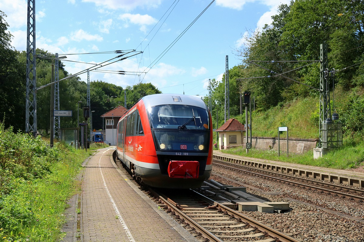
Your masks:
{"label": "red cover over the coupler on the train's front", "polygon": [[173,178],[197,178],[199,166],[198,161],[171,160],[168,175]]}

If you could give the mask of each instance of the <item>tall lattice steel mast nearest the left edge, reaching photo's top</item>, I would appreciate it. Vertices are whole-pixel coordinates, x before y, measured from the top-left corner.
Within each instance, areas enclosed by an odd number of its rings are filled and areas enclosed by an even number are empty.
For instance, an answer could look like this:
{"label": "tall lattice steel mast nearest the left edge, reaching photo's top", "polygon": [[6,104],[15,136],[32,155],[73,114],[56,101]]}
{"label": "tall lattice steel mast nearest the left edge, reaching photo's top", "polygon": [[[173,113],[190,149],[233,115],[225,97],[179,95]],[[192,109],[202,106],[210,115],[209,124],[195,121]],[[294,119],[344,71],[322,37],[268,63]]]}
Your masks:
{"label": "tall lattice steel mast nearest the left edge, reaching photo's top", "polygon": [[25,132],[32,132],[33,136],[37,134],[35,50],[35,0],[28,0]]}

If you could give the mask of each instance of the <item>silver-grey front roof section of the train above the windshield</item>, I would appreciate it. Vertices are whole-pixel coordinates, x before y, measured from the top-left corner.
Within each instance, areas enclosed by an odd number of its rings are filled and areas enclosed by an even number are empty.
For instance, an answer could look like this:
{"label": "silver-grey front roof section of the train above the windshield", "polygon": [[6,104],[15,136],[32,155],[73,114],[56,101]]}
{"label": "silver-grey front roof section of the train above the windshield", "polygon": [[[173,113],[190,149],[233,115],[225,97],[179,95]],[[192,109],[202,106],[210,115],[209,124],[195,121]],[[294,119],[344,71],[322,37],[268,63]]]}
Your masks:
{"label": "silver-grey front roof section of the train above the windshield", "polygon": [[189,95],[181,94],[153,94],[142,98],[145,108],[162,105],[162,104],[177,104],[191,105],[207,109],[207,105],[201,98],[196,98]]}

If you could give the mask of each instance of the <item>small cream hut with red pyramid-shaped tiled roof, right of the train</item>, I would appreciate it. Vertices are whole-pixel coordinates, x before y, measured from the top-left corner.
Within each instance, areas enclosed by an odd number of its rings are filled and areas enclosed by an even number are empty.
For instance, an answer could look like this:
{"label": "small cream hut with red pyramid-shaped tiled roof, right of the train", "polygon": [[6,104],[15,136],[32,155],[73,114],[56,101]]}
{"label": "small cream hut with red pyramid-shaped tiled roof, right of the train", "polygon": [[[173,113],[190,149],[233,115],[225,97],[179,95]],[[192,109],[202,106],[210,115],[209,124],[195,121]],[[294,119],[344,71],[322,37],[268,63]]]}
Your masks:
{"label": "small cream hut with red pyramid-shaped tiled roof, right of the train", "polygon": [[216,130],[219,137],[219,149],[229,149],[229,147],[242,145],[245,136],[245,126],[238,120],[232,118],[226,121]]}

